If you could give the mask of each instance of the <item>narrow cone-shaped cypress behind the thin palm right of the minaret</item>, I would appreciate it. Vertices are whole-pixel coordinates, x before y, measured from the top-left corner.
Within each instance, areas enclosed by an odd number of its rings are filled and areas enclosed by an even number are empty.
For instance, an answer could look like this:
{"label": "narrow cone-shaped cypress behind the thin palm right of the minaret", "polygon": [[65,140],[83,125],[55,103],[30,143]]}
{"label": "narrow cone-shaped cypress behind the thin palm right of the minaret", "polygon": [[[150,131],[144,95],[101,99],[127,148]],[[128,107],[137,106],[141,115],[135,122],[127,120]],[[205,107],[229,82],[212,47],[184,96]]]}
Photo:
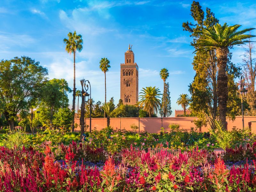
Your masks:
{"label": "narrow cone-shaped cypress behind the thin palm right of the minaret", "polygon": [[165,97],[162,97],[161,108],[159,109],[159,113],[160,113],[161,116],[164,116],[164,109],[165,109],[165,116],[164,117],[166,117],[166,116],[169,117],[169,116],[172,115],[169,83],[164,84],[164,90],[165,90]]}

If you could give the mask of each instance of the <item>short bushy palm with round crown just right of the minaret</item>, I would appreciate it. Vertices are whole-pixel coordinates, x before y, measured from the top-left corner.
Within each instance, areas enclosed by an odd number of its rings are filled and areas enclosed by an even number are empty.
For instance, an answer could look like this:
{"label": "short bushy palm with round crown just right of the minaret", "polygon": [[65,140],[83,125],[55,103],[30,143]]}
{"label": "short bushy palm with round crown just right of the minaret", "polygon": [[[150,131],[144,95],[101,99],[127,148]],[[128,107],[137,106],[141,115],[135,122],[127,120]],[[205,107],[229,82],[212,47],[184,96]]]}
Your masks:
{"label": "short bushy palm with round crown just right of the minaret", "polygon": [[154,113],[157,113],[157,109],[160,107],[160,95],[159,88],[146,87],[142,88],[140,92],[140,104],[144,106],[144,110],[147,111],[149,117]]}

